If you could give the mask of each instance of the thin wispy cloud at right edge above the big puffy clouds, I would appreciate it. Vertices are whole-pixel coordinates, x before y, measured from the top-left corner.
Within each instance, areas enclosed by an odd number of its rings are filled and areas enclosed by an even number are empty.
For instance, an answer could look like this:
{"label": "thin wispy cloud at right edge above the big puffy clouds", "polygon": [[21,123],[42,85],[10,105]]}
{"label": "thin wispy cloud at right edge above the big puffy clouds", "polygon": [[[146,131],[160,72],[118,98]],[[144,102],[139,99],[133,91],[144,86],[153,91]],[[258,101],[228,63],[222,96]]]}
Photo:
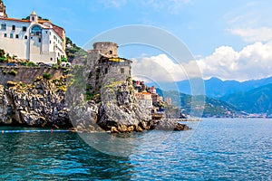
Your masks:
{"label": "thin wispy cloud at right edge above the big puffy clouds", "polygon": [[230,33],[240,36],[245,42],[267,42],[272,40],[272,28],[236,28],[229,29]]}

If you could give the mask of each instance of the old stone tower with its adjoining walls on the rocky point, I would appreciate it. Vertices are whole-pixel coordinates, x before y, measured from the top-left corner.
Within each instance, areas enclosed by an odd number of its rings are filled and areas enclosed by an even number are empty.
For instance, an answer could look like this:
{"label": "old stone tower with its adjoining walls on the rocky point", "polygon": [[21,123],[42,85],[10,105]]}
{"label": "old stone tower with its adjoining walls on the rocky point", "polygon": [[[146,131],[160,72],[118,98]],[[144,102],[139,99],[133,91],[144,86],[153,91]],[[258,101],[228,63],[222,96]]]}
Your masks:
{"label": "old stone tower with its adjoining walls on the rocky point", "polygon": [[110,42],[93,43],[88,51],[90,64],[88,87],[90,93],[100,92],[102,85],[111,80],[126,80],[131,77],[131,61],[118,57],[118,44]]}

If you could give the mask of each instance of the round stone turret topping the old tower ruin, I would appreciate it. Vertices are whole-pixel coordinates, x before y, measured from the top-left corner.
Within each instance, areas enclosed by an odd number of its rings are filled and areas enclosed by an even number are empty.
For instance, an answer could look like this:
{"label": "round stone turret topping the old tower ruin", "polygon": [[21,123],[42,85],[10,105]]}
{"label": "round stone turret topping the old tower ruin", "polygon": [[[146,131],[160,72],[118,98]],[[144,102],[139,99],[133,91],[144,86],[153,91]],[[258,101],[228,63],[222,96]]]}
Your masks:
{"label": "round stone turret topping the old tower ruin", "polygon": [[110,42],[93,43],[93,50],[100,51],[108,57],[118,57],[118,44]]}

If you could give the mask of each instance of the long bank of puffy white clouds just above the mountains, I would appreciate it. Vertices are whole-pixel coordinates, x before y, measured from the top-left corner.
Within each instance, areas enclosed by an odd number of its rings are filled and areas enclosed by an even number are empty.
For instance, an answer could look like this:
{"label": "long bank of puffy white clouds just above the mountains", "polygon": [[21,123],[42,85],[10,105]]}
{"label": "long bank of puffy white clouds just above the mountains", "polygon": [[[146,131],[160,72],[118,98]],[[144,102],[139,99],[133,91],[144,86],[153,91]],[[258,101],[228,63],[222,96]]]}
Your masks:
{"label": "long bank of puffy white clouds just above the mountains", "polygon": [[160,82],[201,76],[237,81],[261,79],[272,75],[272,41],[252,43],[241,51],[221,46],[211,55],[189,63],[173,62],[166,54],[134,59],[132,75],[144,81]]}

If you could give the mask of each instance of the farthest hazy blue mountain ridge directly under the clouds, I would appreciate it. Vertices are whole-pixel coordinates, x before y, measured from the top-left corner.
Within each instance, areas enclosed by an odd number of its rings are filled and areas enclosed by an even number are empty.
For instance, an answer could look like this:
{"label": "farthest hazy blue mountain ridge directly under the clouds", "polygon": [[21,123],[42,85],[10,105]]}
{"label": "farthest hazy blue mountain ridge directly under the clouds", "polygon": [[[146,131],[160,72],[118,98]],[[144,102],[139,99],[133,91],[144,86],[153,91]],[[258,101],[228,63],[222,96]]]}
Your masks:
{"label": "farthest hazy blue mountain ridge directly under the clouds", "polygon": [[[195,79],[191,81],[203,81],[201,79]],[[206,96],[211,98],[219,98],[228,94],[236,93],[239,91],[248,91],[256,89],[260,86],[267,85],[272,83],[272,77],[260,79],[260,80],[251,80],[251,81],[221,81],[218,78],[211,78],[209,80],[204,80],[204,86],[206,91]],[[178,81],[176,85],[180,92],[191,94],[191,83],[190,81]],[[167,86],[169,90],[171,86]],[[196,88],[198,89],[198,88]],[[194,93],[195,94],[195,93]]]}

